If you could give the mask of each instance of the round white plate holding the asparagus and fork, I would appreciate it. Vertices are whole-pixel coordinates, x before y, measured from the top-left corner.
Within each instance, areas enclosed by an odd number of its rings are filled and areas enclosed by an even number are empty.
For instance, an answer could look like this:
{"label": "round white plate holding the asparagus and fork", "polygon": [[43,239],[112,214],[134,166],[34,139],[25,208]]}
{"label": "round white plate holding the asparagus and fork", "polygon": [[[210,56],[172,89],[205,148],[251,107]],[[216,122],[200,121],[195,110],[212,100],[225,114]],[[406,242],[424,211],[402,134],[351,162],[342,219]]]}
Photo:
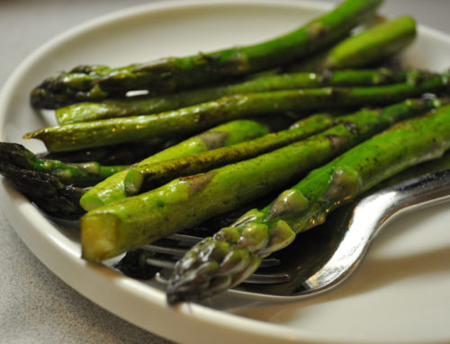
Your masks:
{"label": "round white plate holding the asparagus and fork", "polygon": [[[49,124],[33,113],[28,93],[59,70],[80,63],[120,66],[266,40],[326,8],[276,0],[161,2],[85,23],[35,51],[4,85],[0,139],[43,149],[38,141],[21,138]],[[404,58],[413,66],[444,70],[448,56],[450,39],[420,28],[419,40]],[[49,269],[95,303],[168,339],[219,344],[450,341],[448,206],[390,225],[355,277],[327,295],[290,304],[220,296],[169,308],[157,287],[81,260],[76,230],[51,223],[3,184],[5,214]]]}

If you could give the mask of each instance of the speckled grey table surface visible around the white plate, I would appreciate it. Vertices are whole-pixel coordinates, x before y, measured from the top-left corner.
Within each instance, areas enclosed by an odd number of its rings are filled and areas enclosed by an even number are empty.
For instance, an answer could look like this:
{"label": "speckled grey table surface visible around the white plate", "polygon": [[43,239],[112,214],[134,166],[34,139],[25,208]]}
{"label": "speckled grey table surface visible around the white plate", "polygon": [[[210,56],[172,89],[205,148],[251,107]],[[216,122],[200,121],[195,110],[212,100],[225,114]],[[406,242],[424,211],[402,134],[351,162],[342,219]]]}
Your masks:
{"label": "speckled grey table surface visible around the white plate", "polygon": [[[59,32],[98,15],[148,2],[0,1],[0,85],[23,58]],[[422,24],[450,32],[449,10],[447,0],[385,0],[382,13],[410,14]],[[68,287],[28,250],[2,211],[0,261],[0,343],[171,343],[108,313]]]}

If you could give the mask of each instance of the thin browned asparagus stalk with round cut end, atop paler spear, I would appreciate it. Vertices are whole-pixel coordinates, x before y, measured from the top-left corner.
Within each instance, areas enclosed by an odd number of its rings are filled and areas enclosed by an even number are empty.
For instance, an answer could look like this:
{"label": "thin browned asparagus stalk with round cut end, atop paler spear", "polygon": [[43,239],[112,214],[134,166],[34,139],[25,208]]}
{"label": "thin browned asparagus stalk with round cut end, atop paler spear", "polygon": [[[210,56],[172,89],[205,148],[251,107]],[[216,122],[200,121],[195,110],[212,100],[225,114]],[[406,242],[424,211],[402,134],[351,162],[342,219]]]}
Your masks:
{"label": "thin browned asparagus stalk with round cut end, atop paler spear", "polygon": [[125,191],[127,196],[136,195],[155,189],[176,177],[207,172],[229,163],[247,160],[300,141],[305,137],[310,137],[346,120],[347,116],[335,117],[329,113],[320,113],[296,122],[293,128],[237,145],[221,147],[161,163],[139,163],[139,166],[131,168],[125,176]]}

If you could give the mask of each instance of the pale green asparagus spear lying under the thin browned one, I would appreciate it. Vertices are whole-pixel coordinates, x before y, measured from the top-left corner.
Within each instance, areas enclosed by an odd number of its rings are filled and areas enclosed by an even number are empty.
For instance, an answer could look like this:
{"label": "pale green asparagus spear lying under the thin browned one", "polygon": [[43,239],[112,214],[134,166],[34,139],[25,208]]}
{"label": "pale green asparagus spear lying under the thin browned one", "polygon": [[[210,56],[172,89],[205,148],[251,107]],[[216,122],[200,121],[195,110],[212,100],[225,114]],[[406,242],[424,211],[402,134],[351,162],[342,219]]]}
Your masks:
{"label": "pale green asparagus spear lying under the thin browned one", "polygon": [[[190,137],[175,146],[171,146],[157,154],[148,156],[137,163],[137,166],[148,163],[159,163],[170,159],[199,154],[221,146],[230,146],[255,137],[267,134],[267,128],[253,120],[235,120]],[[127,171],[118,172],[102,181],[81,198],[81,206],[86,210],[101,207],[121,198],[125,198],[123,181]]]}

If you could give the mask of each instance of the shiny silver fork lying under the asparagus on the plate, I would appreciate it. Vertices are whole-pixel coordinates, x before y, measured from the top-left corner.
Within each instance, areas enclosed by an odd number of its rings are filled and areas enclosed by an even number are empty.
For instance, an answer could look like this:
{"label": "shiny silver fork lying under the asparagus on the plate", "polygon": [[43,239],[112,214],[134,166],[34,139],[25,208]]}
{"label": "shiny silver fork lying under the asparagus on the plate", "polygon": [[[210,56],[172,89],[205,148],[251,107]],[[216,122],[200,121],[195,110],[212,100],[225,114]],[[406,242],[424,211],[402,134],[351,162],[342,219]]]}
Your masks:
{"label": "shiny silver fork lying under the asparagus on the plate", "polygon": [[[229,293],[257,300],[293,300],[337,287],[363,260],[374,238],[392,219],[450,199],[450,170],[429,173],[374,192],[329,216],[327,223],[299,235],[286,249]],[[165,283],[175,260],[202,238],[175,234],[169,241],[143,247],[157,252],[147,263],[163,268]],[[177,242],[169,246],[167,242]],[[162,254],[162,255],[160,255]]]}

